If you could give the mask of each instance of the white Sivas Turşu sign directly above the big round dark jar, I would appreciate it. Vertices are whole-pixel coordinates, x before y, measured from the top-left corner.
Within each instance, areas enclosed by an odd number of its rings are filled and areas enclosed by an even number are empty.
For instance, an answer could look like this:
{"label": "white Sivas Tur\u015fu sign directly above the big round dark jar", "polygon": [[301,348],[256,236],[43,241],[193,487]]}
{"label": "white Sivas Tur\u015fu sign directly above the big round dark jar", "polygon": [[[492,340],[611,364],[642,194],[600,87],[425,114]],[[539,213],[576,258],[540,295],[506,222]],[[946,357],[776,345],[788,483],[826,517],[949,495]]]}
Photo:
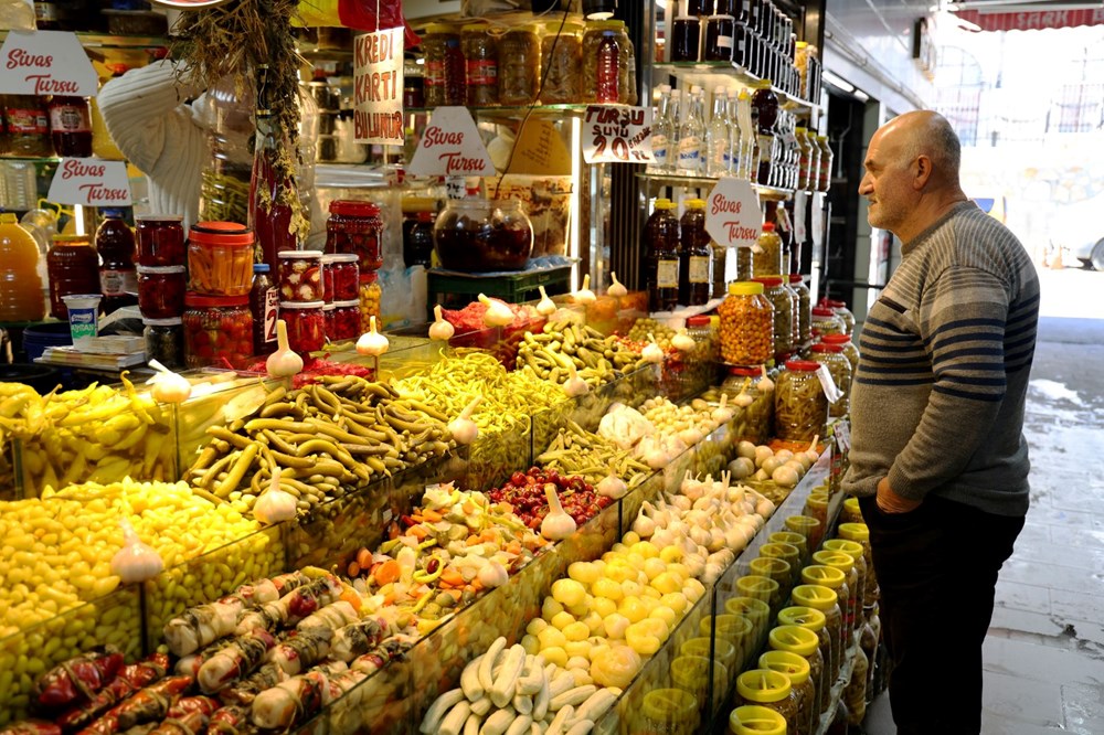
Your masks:
{"label": "white Sivas Tur\u015fu sign directly above the big round dark jar", "polygon": [[495,175],[495,164],[467,107],[433,111],[406,170],[422,177]]}

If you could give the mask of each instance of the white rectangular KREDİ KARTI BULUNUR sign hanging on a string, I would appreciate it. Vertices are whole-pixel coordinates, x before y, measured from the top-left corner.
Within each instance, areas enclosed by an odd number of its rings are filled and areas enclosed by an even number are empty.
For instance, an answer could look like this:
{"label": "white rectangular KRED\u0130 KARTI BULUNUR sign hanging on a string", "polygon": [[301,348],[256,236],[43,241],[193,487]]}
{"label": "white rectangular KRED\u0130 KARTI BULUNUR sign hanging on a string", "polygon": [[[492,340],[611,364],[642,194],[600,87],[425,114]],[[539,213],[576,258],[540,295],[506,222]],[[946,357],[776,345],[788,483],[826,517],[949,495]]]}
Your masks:
{"label": "white rectangular KRED\u0130 KARTI BULUNUR sign hanging on a string", "polygon": [[353,40],[353,138],[403,145],[403,29],[360,33]]}

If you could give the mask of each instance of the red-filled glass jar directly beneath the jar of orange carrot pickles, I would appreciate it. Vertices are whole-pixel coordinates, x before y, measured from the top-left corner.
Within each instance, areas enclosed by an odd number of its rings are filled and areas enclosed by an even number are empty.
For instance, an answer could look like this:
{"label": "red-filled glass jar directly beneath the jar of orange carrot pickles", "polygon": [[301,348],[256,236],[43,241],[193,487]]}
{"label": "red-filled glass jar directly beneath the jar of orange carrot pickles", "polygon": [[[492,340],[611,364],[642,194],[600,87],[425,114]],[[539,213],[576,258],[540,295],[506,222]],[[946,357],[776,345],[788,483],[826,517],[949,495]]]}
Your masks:
{"label": "red-filled glass jar directly beneath the jar of orange carrot pickles", "polygon": [[184,295],[184,362],[241,370],[253,354],[248,296]]}

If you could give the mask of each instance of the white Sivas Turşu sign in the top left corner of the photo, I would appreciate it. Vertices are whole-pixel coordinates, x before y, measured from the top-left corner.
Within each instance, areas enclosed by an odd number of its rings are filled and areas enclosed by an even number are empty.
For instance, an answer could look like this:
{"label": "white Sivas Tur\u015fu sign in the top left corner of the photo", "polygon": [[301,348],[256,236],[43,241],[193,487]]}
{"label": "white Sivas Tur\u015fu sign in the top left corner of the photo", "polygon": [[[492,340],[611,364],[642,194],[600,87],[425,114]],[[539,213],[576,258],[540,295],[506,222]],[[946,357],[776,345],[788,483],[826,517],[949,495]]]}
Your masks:
{"label": "white Sivas Tur\u015fu sign in the top left corner of the photo", "polygon": [[75,33],[11,31],[0,46],[0,93],[95,97],[96,70]]}

